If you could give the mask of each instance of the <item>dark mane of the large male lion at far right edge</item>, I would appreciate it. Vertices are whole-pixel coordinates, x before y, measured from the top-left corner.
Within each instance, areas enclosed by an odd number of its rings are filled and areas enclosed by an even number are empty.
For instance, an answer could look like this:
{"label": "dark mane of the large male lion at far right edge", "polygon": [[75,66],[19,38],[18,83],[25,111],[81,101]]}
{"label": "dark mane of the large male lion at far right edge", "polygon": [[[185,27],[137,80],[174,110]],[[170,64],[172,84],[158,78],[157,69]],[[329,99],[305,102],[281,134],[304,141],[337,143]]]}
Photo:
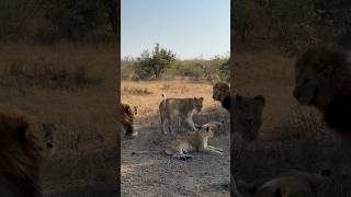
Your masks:
{"label": "dark mane of the large male lion at far right edge", "polygon": [[329,127],[351,139],[351,63],[347,55],[327,47],[310,48],[296,61],[296,68],[315,69],[320,80],[316,103]]}

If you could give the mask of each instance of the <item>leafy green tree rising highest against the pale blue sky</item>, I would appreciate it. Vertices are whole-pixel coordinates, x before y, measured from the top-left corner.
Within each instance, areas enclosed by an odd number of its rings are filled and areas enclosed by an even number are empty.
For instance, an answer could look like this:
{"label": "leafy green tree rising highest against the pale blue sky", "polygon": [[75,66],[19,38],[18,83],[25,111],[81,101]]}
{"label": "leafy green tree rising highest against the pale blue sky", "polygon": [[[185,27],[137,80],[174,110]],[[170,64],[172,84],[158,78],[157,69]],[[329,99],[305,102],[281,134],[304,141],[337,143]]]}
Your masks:
{"label": "leafy green tree rising highest against the pale blue sky", "polygon": [[167,68],[176,60],[176,54],[166,48],[160,48],[159,44],[156,44],[152,53],[148,50],[141,53],[137,58],[137,66],[135,73],[138,79],[156,79],[166,71]]}

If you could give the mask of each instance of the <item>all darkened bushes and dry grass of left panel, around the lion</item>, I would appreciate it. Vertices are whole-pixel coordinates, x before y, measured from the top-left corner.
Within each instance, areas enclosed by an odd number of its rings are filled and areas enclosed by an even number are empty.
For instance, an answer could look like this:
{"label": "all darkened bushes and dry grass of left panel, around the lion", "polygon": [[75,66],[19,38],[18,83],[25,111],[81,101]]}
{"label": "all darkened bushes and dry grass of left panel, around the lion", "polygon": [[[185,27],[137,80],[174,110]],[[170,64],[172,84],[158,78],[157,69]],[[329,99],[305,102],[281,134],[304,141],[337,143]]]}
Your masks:
{"label": "all darkened bushes and dry grass of left panel, around the lion", "polygon": [[43,196],[116,194],[116,16],[114,0],[0,1],[0,108],[57,127]]}

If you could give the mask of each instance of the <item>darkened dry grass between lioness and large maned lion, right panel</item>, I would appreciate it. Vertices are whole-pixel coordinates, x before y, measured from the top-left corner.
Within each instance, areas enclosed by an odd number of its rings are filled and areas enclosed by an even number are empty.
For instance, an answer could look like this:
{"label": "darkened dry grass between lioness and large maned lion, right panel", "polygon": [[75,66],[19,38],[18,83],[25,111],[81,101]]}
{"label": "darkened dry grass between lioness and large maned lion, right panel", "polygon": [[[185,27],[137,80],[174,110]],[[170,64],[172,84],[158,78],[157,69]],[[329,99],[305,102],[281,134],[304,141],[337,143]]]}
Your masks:
{"label": "darkened dry grass between lioness and large maned lion, right panel", "polygon": [[292,169],[318,172],[327,166],[332,184],[320,196],[350,196],[350,176],[340,175],[350,165],[340,140],[316,108],[299,106],[293,97],[294,58],[269,53],[234,56],[234,92],[263,94],[267,101],[257,147],[240,138],[234,143],[231,164],[237,178],[262,182]]}

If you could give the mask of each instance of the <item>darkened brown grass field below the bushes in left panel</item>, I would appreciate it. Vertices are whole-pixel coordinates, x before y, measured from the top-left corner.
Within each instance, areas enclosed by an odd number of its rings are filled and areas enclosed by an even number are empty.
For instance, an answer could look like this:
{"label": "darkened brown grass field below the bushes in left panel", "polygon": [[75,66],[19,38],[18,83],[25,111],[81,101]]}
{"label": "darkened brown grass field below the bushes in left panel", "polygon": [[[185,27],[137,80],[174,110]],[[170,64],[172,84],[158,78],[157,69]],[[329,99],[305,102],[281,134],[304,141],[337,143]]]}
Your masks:
{"label": "darkened brown grass field below the bushes in left panel", "polygon": [[43,166],[45,196],[115,194],[116,58],[113,44],[0,46],[0,107],[58,128]]}

